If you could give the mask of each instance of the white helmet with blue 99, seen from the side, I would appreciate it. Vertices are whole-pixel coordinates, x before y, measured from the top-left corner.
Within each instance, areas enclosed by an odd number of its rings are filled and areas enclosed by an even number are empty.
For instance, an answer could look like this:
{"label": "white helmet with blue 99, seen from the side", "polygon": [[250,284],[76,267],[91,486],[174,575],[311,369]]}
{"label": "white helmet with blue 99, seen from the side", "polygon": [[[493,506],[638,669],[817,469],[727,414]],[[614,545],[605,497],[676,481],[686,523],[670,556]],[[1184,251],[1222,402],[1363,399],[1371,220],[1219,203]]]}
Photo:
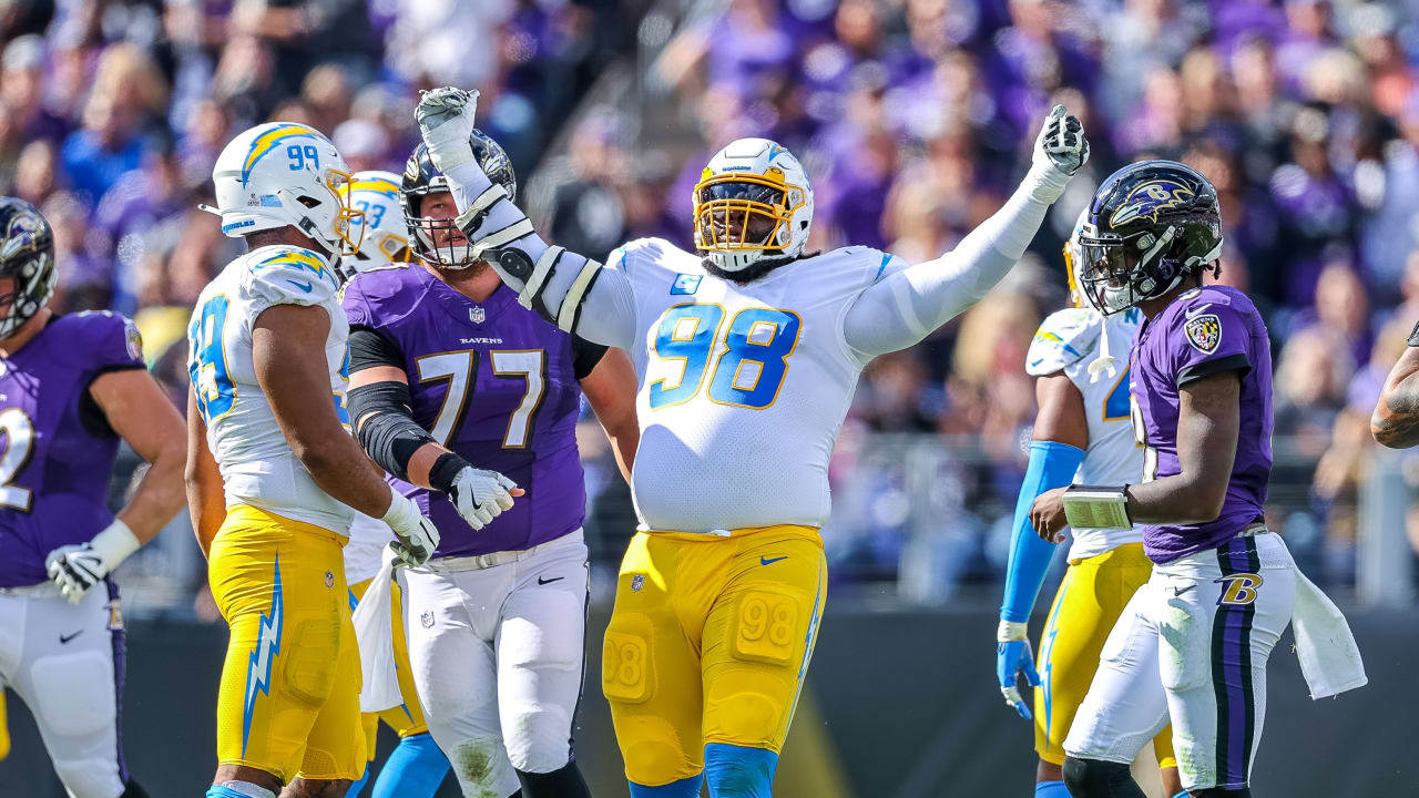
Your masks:
{"label": "white helmet with blue 99, seen from the side", "polygon": [[214,213],[233,239],[295,227],[333,256],[352,254],[359,240],[350,230],[363,230],[363,219],[341,192],[349,179],[345,159],[319,131],[294,122],[257,125],[217,156]]}

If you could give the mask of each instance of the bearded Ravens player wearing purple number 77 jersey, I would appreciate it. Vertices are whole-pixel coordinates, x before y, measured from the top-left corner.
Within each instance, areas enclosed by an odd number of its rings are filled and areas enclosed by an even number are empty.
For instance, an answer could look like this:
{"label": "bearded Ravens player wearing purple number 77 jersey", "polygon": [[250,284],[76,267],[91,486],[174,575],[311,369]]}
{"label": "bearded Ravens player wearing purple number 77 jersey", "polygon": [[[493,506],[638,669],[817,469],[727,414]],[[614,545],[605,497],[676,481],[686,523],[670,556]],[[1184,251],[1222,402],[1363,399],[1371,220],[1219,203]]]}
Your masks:
{"label": "bearded Ravens player wearing purple number 77 jersey", "polygon": [[[477,131],[473,146],[515,193],[502,148]],[[400,571],[424,717],[464,795],[586,797],[572,751],[587,598],[576,422],[585,396],[629,473],[636,375],[623,352],[518,304],[457,229],[424,145],[400,197],[417,261],[363,270],[343,305],[352,425],[443,534]]]}

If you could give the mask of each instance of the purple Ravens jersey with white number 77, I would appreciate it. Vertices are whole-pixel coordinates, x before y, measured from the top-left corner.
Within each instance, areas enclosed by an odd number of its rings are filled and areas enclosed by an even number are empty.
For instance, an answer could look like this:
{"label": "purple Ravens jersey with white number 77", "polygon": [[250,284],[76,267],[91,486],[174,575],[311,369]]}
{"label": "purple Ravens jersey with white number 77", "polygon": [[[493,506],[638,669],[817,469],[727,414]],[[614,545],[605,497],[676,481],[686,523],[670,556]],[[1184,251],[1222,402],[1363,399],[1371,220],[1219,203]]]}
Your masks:
{"label": "purple Ravens jersey with white number 77", "polygon": [[419,426],[526,491],[474,531],[443,493],[390,476],[438,527],[434,557],[525,550],[582,525],[582,388],[570,335],[519,305],[505,285],[474,302],[421,266],[355,275],[343,305],[352,328],[372,328],[399,349]]}

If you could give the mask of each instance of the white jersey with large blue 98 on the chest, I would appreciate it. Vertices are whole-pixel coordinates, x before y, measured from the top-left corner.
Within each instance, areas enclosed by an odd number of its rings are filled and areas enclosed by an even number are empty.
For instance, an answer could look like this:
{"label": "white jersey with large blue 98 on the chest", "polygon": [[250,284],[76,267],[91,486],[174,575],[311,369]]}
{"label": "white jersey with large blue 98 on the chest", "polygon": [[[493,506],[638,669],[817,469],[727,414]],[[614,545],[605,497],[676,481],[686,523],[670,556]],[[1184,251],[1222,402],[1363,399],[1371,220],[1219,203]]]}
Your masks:
{"label": "white jersey with large blue 98 on the chest", "polygon": [[829,514],[827,461],[866,358],[851,302],[901,261],[866,247],[797,260],[739,285],[658,239],[609,268],[636,294],[640,378],[631,494],[641,528],[712,532]]}

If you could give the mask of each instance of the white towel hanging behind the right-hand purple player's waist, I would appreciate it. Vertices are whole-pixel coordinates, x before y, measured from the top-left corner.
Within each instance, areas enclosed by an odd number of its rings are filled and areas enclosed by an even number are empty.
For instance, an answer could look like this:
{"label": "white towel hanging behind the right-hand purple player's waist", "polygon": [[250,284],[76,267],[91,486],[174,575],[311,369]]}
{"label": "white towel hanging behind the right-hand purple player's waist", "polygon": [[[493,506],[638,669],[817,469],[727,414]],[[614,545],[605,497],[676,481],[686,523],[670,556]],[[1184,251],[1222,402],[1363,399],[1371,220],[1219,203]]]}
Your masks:
{"label": "white towel hanging behind the right-hand purple player's waist", "polygon": [[1301,674],[1311,690],[1311,699],[1337,696],[1345,690],[1364,687],[1369,682],[1365,663],[1359,659],[1355,635],[1335,602],[1317,588],[1301,569],[1296,572],[1296,606],[1291,628],[1296,632],[1296,656],[1301,660]]}

